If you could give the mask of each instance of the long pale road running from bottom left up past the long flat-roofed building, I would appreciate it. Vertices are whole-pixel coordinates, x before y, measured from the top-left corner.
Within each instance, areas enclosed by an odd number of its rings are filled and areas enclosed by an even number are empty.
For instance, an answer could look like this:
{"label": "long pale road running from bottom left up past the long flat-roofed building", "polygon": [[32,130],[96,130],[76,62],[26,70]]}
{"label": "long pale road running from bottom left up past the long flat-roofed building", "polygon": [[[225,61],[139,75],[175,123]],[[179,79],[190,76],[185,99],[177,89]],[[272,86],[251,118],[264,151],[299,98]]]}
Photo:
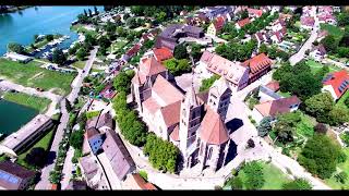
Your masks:
{"label": "long pale road running from bottom left up past the long flat-roofed building", "polygon": [[[96,53],[97,53],[98,47],[95,47],[94,50],[91,51],[91,56],[88,57],[88,60],[86,62],[86,65],[84,68],[85,72],[80,72],[77,74],[77,76],[75,77],[75,79],[72,83],[72,91],[68,95],[68,100],[73,102],[73,100],[76,99],[77,94],[80,91],[80,88],[82,87],[82,82],[84,79],[84,77],[88,74],[93,62],[96,58]],[[63,133],[64,133],[64,128],[68,125],[68,121],[69,121],[69,113],[65,109],[65,99],[62,99],[60,101],[60,108],[61,108],[61,122],[57,127],[56,131],[56,135],[50,148],[50,157],[48,158],[48,164],[41,170],[41,179],[39,181],[39,183],[35,186],[35,189],[50,189],[51,184],[48,180],[49,177],[49,172],[53,170],[55,167],[55,162],[56,162],[56,156],[57,156],[57,151],[58,151],[58,147],[59,147],[59,143],[62,140],[63,137]],[[69,169],[67,170],[69,171]],[[70,169],[71,171],[71,169]]]}

